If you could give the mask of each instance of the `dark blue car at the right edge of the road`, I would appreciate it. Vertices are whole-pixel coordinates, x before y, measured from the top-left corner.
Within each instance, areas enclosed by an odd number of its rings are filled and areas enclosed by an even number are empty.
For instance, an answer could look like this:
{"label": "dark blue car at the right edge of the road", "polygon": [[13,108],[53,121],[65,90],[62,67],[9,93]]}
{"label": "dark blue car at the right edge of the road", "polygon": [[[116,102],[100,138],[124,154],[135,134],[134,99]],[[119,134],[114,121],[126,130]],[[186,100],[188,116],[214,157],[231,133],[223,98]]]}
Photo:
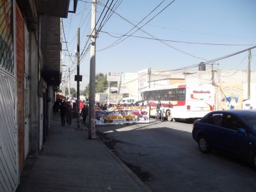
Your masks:
{"label": "dark blue car at the right edge of the road", "polygon": [[194,122],[192,136],[203,153],[220,148],[256,168],[256,111],[212,111]]}

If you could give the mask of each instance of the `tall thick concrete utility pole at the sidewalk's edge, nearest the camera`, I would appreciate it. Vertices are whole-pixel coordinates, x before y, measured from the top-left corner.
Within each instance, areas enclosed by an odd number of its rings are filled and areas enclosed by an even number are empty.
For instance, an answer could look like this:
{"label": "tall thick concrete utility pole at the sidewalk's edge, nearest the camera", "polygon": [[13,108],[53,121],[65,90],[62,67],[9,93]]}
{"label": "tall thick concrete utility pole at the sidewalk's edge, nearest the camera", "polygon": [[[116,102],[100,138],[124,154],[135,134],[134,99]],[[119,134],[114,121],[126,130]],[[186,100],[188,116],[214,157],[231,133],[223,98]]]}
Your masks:
{"label": "tall thick concrete utility pole at the sidewalk's edge, nearest the camera", "polygon": [[96,44],[96,1],[92,0],[92,22],[90,42],[90,96],[89,96],[89,127],[88,139],[95,138],[95,44]]}

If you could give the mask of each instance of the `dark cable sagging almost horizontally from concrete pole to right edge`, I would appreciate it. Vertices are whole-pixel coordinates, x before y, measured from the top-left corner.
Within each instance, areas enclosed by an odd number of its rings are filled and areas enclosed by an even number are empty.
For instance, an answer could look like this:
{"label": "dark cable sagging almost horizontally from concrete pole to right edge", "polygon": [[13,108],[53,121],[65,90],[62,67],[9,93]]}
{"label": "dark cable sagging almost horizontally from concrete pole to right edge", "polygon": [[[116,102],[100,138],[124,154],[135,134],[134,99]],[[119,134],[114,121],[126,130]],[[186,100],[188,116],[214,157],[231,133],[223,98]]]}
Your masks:
{"label": "dark cable sagging almost horizontally from concrete pole to right edge", "polygon": [[175,42],[175,43],[182,43],[182,44],[199,44],[199,45],[225,45],[225,46],[253,46],[255,44],[212,44],[212,43],[202,43],[202,42],[184,42],[184,41],[177,41],[177,40],[166,40],[166,39],[161,39],[161,38],[150,38],[146,36],[135,36],[135,35],[122,35],[119,33],[116,33],[116,35],[121,35],[121,36],[113,36],[110,34],[108,31],[100,31],[102,33],[106,33],[109,36],[115,37],[115,38],[120,38],[122,36],[131,36],[131,37],[136,37],[136,38],[144,38],[144,39],[149,39],[149,40],[161,40],[164,42]]}

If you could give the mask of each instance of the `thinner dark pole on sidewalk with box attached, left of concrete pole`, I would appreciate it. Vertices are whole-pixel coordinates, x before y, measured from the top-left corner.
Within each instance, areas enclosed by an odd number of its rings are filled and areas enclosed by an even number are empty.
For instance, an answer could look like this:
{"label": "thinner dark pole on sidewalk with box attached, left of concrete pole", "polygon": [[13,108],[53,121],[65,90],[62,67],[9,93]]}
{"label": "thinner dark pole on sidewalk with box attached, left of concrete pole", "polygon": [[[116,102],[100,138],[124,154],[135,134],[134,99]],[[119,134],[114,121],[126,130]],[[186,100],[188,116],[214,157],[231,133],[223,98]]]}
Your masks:
{"label": "thinner dark pole on sidewalk with box attached, left of concrete pole", "polygon": [[77,64],[77,82],[76,82],[76,101],[77,101],[77,130],[81,130],[80,128],[80,114],[79,114],[79,108],[80,108],[80,90],[79,90],[79,84],[80,84],[80,28],[77,28],[77,51],[76,51],[76,64]]}

